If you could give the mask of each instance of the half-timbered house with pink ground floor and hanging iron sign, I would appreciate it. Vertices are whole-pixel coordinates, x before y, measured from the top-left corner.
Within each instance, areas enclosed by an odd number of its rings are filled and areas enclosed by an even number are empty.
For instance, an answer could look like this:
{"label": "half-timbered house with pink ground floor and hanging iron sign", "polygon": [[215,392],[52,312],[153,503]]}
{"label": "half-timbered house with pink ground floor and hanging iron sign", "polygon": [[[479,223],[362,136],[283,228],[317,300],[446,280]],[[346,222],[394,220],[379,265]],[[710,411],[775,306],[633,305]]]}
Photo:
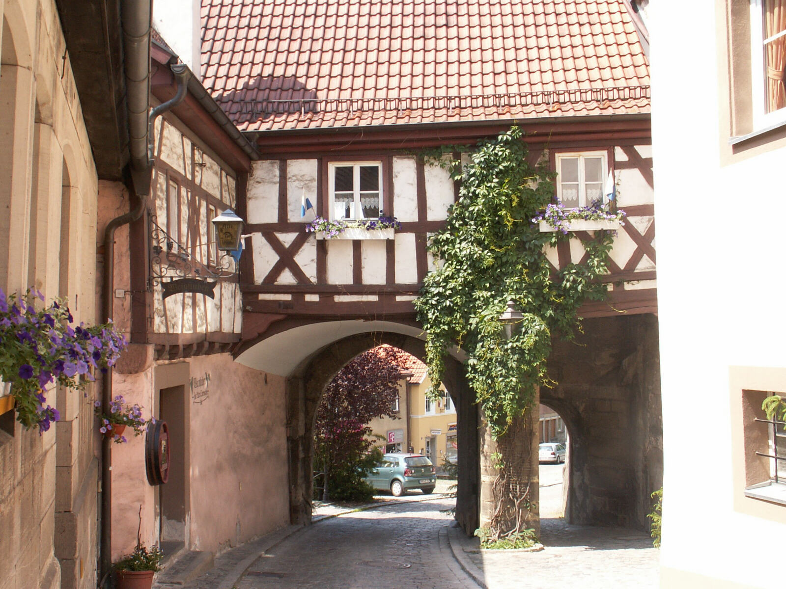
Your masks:
{"label": "half-timbered house with pink ground floor and hanging iron sign", "polygon": [[[144,213],[116,232],[113,314],[130,346],[111,386],[166,424],[167,473],[145,445],[160,439],[155,426],[113,448],[112,555],[133,550],[140,529],[169,558],[193,551],[207,566],[288,523],[284,399],[270,395],[281,378],[233,362],[240,252],[220,251],[212,224],[242,210],[255,150],[156,31],[150,91],[154,113],[182,100],[150,125]],[[102,197],[107,214],[130,206]]]}

